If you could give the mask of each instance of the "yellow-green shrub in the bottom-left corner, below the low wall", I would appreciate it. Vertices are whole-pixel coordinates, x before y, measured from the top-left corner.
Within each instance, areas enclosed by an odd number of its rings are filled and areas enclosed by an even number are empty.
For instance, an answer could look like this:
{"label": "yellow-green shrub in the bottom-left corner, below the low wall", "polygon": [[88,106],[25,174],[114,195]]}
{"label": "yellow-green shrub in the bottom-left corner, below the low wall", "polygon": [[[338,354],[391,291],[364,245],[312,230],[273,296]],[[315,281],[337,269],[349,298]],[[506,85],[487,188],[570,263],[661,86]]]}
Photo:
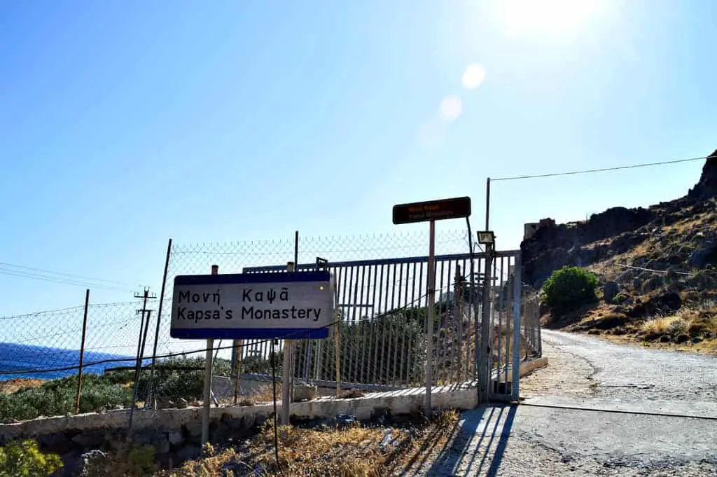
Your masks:
{"label": "yellow-green shrub in the bottom-left corner, below the low wall", "polygon": [[0,477],[47,477],[62,467],[57,454],[43,454],[34,440],[0,447]]}

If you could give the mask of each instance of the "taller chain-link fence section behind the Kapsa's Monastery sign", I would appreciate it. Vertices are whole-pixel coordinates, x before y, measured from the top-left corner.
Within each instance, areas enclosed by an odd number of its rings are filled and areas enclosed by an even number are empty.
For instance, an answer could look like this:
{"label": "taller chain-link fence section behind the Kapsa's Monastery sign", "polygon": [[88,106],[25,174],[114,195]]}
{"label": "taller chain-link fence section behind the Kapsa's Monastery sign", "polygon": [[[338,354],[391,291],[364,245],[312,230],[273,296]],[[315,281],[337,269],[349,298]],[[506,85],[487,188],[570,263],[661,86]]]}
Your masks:
{"label": "taller chain-link fence section behind the Kapsa's Monastery sign", "polygon": [[[341,323],[328,339],[296,341],[293,374],[310,382],[336,381],[384,386],[420,385],[426,358],[427,305],[426,233],[356,237],[301,237],[295,240],[171,247],[167,283],[176,275],[209,273],[281,273],[298,255],[298,270],[328,268],[336,278],[336,305]],[[298,247],[297,247],[298,245]],[[297,250],[298,249],[298,250]],[[465,231],[440,232],[436,237],[435,359],[439,380],[459,379],[475,372],[475,306],[482,254],[469,252]],[[473,273],[473,275],[471,275]],[[457,291],[459,290],[459,291]],[[462,292],[461,292],[462,291]],[[463,293],[460,301],[457,293]],[[172,340],[169,336],[171,291],[164,297],[160,353],[199,353],[204,341]],[[460,338],[462,337],[462,339]],[[226,341],[217,356],[229,359]],[[242,372],[270,372],[270,342],[240,343]],[[281,352],[279,343],[278,352]],[[454,363],[448,366],[447,362]],[[454,372],[462,367],[462,374]],[[445,369],[444,369],[445,368]],[[338,373],[337,373],[338,370]],[[452,376],[455,374],[455,376]],[[451,376],[451,377],[449,377]],[[331,383],[331,384],[328,384]]]}

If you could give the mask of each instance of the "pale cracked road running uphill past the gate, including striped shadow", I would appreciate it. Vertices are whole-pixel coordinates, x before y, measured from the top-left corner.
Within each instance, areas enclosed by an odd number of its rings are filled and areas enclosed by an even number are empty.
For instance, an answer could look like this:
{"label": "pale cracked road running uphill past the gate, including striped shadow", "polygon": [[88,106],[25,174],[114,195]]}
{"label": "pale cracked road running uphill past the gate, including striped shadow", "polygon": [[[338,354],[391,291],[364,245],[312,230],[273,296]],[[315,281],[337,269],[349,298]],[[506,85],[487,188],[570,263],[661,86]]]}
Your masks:
{"label": "pale cracked road running uphill past the gate, including striped shadow", "polygon": [[543,355],[521,405],[465,412],[450,445],[402,475],[717,476],[717,358],[558,331],[543,331]]}

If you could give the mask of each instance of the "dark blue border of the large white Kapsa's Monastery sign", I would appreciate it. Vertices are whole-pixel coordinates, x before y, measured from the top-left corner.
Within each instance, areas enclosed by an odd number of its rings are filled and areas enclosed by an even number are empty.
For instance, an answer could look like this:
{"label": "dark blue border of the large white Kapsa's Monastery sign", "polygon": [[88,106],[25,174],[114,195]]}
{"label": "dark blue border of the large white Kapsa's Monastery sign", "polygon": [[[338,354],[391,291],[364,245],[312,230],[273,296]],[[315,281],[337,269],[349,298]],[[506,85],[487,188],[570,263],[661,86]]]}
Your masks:
{"label": "dark blue border of the large white Kapsa's Monastery sign", "polygon": [[[315,283],[316,285],[328,286],[328,293],[330,293],[330,306],[326,311],[331,318],[323,318],[321,326],[293,326],[293,327],[241,327],[236,324],[244,321],[238,316],[232,317],[234,326],[227,327],[211,327],[211,328],[176,328],[174,323],[179,319],[178,311],[178,293],[181,287],[187,287],[191,289],[191,286],[204,285],[214,287],[217,286],[217,296],[219,300],[222,299],[222,285],[275,285],[275,288],[281,288],[282,285],[285,287],[290,286],[292,283]],[[186,293],[186,289],[185,289]],[[194,292],[190,292],[194,293]],[[202,293],[206,295],[206,293]],[[207,300],[213,300],[214,297],[206,297]],[[242,297],[239,297],[242,298]],[[243,298],[242,298],[243,300]],[[237,306],[241,310],[243,301],[232,300],[232,303],[236,301],[238,305],[235,305],[232,311],[237,311]],[[209,303],[215,308],[219,309],[221,302]],[[288,304],[291,306],[292,298],[288,298]],[[253,303],[252,303],[253,304]],[[322,303],[324,305],[326,303]],[[266,303],[264,303],[266,305]],[[326,308],[320,308],[324,310]],[[328,270],[320,271],[301,271],[301,272],[275,272],[275,273],[227,273],[223,275],[176,275],[174,277],[174,288],[172,293],[171,303],[171,321],[169,334],[173,339],[325,339],[329,336],[329,331],[333,326],[334,311],[336,310],[336,285],[333,275]],[[222,316],[218,319],[225,319]],[[273,318],[267,319],[267,323],[272,323]],[[281,318],[279,318],[281,319]],[[288,318],[292,319],[292,318]],[[317,316],[318,320],[318,316]],[[252,320],[253,321],[253,320]],[[196,323],[196,321],[195,321]],[[236,324],[234,324],[236,323]]]}

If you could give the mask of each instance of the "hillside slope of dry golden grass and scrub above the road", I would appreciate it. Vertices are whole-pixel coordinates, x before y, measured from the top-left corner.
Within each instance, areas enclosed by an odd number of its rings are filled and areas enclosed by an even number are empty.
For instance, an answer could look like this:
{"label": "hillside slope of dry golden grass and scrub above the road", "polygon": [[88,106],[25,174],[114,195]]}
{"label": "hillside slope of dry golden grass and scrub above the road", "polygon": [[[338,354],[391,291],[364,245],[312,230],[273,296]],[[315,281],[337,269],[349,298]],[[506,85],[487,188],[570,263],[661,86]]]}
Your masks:
{"label": "hillside slope of dry golden grass and scrub above the road", "polygon": [[609,303],[601,288],[597,306],[559,318],[546,315],[543,324],[612,341],[717,354],[717,201],[677,212],[673,207],[664,214],[635,232],[584,245],[609,248],[625,235],[648,235],[629,250],[608,253],[585,267],[601,284],[617,284],[618,293]]}

